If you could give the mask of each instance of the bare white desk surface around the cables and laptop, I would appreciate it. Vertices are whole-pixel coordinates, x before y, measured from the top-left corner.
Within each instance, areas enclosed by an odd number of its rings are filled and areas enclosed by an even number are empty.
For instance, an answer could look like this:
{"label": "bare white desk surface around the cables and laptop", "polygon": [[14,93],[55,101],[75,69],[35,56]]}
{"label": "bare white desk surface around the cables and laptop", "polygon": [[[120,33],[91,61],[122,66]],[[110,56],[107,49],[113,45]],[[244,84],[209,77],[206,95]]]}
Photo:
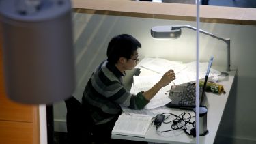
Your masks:
{"label": "bare white desk surface around the cables and laptop", "polygon": [[[219,69],[216,69],[219,70]],[[200,136],[200,143],[210,144],[214,143],[214,139],[216,137],[216,133],[218,131],[218,126],[221,122],[221,117],[223,116],[223,111],[225,109],[227,99],[229,97],[229,91],[233,85],[233,80],[236,75],[236,71],[228,72],[229,76],[223,78],[223,80],[218,81],[218,84],[224,86],[226,91],[225,94],[215,94],[215,93],[206,93],[206,97],[203,100],[203,105],[207,106],[207,127],[209,133],[205,136]],[[168,108],[170,109],[170,108]],[[182,113],[183,111],[180,109],[170,109],[171,113]],[[195,115],[193,111],[191,115]],[[169,130],[171,128],[171,124],[162,124],[160,126],[162,130]],[[156,126],[151,125],[145,138],[134,137],[134,136],[120,136],[112,134],[113,139],[128,139],[133,141],[147,141],[152,143],[196,143],[196,139],[193,136],[188,136],[183,132],[183,130],[174,130],[172,132],[165,132],[163,134],[156,133]]]}

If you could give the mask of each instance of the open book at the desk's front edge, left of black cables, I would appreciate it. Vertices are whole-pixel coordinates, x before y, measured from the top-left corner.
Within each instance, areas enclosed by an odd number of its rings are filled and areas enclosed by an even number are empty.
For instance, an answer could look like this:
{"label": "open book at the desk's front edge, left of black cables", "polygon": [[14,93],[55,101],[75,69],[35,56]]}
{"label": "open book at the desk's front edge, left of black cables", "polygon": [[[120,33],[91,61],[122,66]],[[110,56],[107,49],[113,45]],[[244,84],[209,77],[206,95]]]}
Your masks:
{"label": "open book at the desk's front edge, left of black cables", "polygon": [[145,137],[152,118],[150,115],[122,113],[115,122],[112,134]]}

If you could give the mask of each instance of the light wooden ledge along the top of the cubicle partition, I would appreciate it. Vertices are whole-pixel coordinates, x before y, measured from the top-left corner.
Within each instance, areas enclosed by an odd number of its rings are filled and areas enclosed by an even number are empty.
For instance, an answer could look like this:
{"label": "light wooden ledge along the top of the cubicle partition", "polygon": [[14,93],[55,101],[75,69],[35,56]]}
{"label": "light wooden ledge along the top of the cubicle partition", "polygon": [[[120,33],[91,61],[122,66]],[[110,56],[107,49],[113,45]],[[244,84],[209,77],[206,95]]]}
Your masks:
{"label": "light wooden ledge along the top of the cubicle partition", "polygon": [[[102,10],[119,15],[132,14],[147,18],[195,20],[196,5],[150,3],[147,1],[72,0],[74,9]],[[256,9],[200,5],[201,22],[256,25]]]}

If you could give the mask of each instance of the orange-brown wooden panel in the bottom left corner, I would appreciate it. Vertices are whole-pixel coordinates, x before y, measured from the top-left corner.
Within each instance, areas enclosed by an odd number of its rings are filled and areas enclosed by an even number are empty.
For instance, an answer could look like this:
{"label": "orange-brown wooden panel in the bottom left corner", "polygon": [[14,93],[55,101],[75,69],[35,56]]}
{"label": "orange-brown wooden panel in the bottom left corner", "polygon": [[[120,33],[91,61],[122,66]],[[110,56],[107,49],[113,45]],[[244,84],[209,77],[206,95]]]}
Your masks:
{"label": "orange-brown wooden panel in the bottom left corner", "polygon": [[33,123],[0,121],[0,143],[33,144]]}

